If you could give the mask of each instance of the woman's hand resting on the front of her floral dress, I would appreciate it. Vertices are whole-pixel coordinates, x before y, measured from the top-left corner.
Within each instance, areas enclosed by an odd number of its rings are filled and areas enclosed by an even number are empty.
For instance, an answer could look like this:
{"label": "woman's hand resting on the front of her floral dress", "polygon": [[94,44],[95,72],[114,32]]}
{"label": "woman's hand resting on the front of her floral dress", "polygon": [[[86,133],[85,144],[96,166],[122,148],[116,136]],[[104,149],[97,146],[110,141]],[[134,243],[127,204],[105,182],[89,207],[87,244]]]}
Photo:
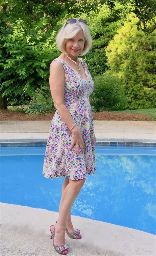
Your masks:
{"label": "woman's hand resting on the front of her floral dress", "polygon": [[79,155],[79,147],[82,151],[82,154],[84,154],[84,143],[83,143],[80,128],[76,125],[71,130],[71,133],[72,133],[72,143],[71,143],[69,150],[71,151],[71,149],[74,147],[74,145],[76,145],[76,155],[77,156]]}

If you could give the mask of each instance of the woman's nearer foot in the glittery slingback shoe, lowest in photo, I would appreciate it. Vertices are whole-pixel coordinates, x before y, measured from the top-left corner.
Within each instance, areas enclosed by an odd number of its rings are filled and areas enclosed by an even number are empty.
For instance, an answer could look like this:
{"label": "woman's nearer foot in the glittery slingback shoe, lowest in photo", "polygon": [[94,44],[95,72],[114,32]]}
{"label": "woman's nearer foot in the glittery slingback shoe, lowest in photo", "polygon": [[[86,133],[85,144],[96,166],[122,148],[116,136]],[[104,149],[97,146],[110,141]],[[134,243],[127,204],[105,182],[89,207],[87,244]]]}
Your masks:
{"label": "woman's nearer foot in the glittery slingback shoe, lowest in photo", "polygon": [[[50,227],[51,232],[53,232],[53,226]],[[55,224],[55,237],[54,237],[54,245],[60,246],[65,244],[65,230],[62,227],[59,227],[58,223]],[[66,254],[68,250],[64,250],[63,254]]]}

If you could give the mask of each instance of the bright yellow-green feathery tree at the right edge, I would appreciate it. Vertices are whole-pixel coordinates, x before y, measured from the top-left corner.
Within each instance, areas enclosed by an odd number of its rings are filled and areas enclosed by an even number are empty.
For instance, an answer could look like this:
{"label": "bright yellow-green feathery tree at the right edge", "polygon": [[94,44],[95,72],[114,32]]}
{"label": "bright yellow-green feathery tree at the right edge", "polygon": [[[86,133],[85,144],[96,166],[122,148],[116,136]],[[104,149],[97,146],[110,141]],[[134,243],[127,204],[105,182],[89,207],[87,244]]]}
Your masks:
{"label": "bright yellow-green feathery tree at the right edge", "polygon": [[129,109],[156,107],[154,72],[154,23],[148,24],[150,34],[138,31],[138,18],[127,17],[124,26],[106,47],[110,71],[126,85]]}

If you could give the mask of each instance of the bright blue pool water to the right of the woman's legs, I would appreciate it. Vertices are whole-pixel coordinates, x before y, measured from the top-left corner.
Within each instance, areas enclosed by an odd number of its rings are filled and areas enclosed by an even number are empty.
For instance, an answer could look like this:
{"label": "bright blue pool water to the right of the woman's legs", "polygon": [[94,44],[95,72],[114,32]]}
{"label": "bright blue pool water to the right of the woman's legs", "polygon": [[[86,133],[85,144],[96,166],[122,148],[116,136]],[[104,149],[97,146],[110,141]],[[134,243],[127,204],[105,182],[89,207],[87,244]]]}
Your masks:
{"label": "bright blue pool water to the right of the woman's legs", "polygon": [[88,176],[72,213],[154,233],[155,163],[155,156],[96,155],[96,175]]}

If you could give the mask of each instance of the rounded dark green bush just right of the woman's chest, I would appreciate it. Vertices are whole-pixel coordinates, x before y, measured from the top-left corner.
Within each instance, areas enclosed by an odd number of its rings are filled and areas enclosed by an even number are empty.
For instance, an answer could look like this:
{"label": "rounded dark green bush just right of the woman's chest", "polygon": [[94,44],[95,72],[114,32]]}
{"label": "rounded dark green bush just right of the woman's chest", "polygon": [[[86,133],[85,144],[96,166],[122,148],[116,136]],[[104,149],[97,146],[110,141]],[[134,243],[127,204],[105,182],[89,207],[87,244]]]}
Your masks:
{"label": "rounded dark green bush just right of the woman's chest", "polygon": [[90,96],[95,111],[114,111],[126,108],[126,97],[121,81],[113,75],[94,77],[94,91]]}

